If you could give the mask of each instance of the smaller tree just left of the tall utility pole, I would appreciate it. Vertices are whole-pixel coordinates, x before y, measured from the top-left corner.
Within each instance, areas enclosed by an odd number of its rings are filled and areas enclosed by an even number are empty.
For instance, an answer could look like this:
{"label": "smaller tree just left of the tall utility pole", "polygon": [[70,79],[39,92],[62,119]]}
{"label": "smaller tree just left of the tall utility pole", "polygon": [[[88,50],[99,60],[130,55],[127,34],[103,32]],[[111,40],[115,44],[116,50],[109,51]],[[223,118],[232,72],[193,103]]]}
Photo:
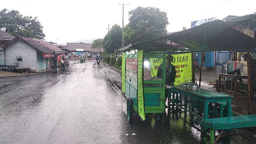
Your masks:
{"label": "smaller tree just left of the tall utility pole", "polygon": [[104,37],[103,48],[107,53],[117,53],[117,49],[121,48],[122,29],[119,25],[114,24]]}

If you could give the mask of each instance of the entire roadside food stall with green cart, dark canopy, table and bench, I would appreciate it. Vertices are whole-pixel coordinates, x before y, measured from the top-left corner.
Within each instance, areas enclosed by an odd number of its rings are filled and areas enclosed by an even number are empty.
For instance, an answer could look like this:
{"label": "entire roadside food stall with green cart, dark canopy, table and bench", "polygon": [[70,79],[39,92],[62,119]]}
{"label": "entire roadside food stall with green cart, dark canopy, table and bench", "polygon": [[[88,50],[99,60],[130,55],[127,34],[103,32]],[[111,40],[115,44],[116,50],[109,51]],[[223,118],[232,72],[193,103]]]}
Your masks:
{"label": "entire roadside food stall with green cart, dark canopy, table and bench", "polygon": [[[175,42],[178,46],[160,42],[164,40]],[[147,113],[164,113],[165,100],[168,97],[168,112],[170,111],[170,105],[172,105],[172,107],[179,107],[202,119],[200,122],[201,133],[204,135],[209,130],[210,143],[214,142],[214,131],[216,129],[244,126],[242,124],[234,126],[232,123],[237,123],[237,118],[232,116],[231,96],[198,87],[194,79],[190,52],[215,50],[251,52],[256,51],[255,47],[255,39],[232,29],[221,20],[214,20],[180,32],[130,44],[122,48],[122,91],[127,97],[128,120],[131,121],[133,112],[139,115],[141,120],[145,120]],[[166,55],[172,55],[171,63],[175,65],[176,78],[172,86],[165,85]],[[180,63],[177,64],[175,62]],[[158,76],[158,71],[162,71],[161,77]],[[250,74],[248,74],[248,81],[250,80],[249,77]],[[249,82],[248,86],[250,86]],[[250,93],[248,93],[248,97],[250,97]],[[194,107],[196,106],[201,111],[200,114],[194,112]],[[226,112],[223,112],[224,110]],[[217,114],[215,116],[209,115],[211,111],[215,111]],[[232,120],[232,118],[236,120]],[[246,116],[239,117],[238,122],[246,123],[247,118]],[[252,124],[246,126],[256,126],[256,115],[250,115],[249,118]],[[207,119],[213,120],[205,121]],[[216,125],[229,124],[232,126],[214,128],[207,125],[210,122]],[[204,123],[207,123],[207,126]]]}

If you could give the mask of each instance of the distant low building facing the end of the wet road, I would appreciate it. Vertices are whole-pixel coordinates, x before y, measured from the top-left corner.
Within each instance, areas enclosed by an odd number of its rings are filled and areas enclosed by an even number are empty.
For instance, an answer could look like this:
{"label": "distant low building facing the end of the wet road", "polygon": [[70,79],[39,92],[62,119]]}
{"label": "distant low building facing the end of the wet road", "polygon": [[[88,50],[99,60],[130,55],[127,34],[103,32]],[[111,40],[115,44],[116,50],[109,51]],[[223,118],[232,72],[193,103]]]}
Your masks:
{"label": "distant low building facing the end of the wet road", "polygon": [[66,49],[76,55],[86,54],[88,57],[100,56],[103,48],[93,48],[92,43],[66,43]]}

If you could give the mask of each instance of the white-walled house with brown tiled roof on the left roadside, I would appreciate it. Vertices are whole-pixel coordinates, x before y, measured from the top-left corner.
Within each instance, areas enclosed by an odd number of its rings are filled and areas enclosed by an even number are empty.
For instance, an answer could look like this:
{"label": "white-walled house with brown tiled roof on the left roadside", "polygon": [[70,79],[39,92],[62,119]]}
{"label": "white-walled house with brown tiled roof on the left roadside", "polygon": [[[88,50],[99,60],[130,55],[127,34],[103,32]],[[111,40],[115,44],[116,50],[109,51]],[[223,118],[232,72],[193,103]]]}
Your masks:
{"label": "white-walled house with brown tiled roof on the left roadside", "polygon": [[64,51],[47,41],[17,36],[5,46],[5,63],[36,72],[51,69]]}

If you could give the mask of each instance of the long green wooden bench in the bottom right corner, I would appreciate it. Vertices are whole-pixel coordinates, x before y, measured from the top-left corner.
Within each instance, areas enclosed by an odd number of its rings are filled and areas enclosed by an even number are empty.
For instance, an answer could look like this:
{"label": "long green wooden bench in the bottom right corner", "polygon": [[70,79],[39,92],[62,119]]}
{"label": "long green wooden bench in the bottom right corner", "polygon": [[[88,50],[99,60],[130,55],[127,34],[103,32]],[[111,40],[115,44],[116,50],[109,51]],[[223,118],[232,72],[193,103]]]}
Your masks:
{"label": "long green wooden bench in the bottom right corner", "polygon": [[209,142],[213,144],[215,140],[215,130],[254,127],[256,126],[256,114],[202,119],[200,120],[200,126],[202,131],[204,131],[203,129],[209,128]]}

